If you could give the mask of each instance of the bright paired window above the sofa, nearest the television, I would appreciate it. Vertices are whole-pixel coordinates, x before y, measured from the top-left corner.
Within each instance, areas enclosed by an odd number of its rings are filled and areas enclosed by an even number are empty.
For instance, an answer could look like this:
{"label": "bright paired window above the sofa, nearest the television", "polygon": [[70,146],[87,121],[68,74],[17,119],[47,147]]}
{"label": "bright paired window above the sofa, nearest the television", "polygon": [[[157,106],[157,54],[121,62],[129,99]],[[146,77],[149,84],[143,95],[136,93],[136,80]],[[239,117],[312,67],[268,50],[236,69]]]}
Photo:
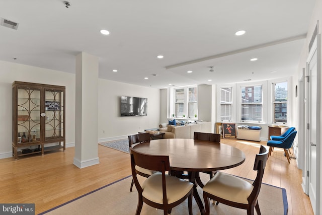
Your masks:
{"label": "bright paired window above the sofa, nearest the television", "polygon": [[[196,118],[198,112],[197,86],[170,89],[170,117]],[[174,113],[174,114],[172,114]]]}

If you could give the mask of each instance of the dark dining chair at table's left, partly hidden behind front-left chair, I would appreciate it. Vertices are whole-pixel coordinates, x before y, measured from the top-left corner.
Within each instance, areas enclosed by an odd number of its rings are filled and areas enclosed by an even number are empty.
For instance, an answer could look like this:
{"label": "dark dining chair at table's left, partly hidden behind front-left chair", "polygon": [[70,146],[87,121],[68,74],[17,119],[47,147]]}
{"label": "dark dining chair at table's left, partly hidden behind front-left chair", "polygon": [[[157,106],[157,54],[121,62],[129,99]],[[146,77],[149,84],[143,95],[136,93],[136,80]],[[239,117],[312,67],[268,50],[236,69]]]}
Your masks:
{"label": "dark dining chair at table's left, partly hidden behind front-left chair", "polygon": [[[150,141],[150,134],[137,133],[137,134],[129,135],[128,138],[129,138],[129,148],[131,149],[133,144],[140,144],[142,142]],[[143,169],[141,167],[135,167],[135,168],[137,169],[138,174],[145,178],[149,177],[150,175],[156,172],[148,169]],[[134,185],[134,181],[132,179],[130,192],[132,192],[133,185]]]}

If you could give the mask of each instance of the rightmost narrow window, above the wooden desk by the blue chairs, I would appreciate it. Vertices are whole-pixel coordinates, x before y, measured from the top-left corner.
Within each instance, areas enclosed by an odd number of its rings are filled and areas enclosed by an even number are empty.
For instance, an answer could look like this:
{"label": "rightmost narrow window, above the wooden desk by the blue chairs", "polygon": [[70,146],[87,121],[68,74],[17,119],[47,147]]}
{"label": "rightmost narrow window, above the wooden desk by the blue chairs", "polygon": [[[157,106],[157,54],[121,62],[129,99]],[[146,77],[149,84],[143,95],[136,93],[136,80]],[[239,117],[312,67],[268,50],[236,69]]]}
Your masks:
{"label": "rightmost narrow window, above the wooden desk by the blue chairs", "polygon": [[274,122],[287,122],[287,82],[273,83]]}

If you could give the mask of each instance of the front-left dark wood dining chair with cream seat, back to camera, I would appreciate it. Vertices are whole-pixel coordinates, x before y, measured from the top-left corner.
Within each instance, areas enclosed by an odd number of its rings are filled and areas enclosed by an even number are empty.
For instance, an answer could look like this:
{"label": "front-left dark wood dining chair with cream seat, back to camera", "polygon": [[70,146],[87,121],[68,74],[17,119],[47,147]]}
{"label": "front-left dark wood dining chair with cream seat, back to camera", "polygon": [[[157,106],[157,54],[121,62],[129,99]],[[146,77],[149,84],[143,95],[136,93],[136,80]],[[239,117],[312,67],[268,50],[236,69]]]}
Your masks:
{"label": "front-left dark wood dining chair with cream seat, back to camera", "polygon": [[[168,175],[170,171],[169,156],[147,155],[130,148],[132,177],[138,193],[136,215],[141,213],[143,202],[163,209],[164,214],[171,213],[173,207],[188,198],[188,210],[192,215],[193,183]],[[136,167],[150,169],[156,173],[150,175],[142,185],[139,183]]]}

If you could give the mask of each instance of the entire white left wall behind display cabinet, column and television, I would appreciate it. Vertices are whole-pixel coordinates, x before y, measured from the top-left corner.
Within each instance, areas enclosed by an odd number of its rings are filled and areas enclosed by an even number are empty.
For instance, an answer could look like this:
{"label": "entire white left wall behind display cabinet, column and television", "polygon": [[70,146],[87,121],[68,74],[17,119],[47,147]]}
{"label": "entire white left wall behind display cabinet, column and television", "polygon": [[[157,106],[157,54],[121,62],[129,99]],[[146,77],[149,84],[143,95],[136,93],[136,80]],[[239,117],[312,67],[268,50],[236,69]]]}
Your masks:
{"label": "entire white left wall behind display cabinet, column and television", "polygon": [[[66,144],[75,138],[75,74],[0,61],[0,158],[12,156],[12,83],[14,81],[66,87]],[[127,137],[158,127],[160,90],[99,79],[98,141]],[[120,96],[148,99],[147,116],[120,117]],[[103,133],[103,130],[105,133]]]}

